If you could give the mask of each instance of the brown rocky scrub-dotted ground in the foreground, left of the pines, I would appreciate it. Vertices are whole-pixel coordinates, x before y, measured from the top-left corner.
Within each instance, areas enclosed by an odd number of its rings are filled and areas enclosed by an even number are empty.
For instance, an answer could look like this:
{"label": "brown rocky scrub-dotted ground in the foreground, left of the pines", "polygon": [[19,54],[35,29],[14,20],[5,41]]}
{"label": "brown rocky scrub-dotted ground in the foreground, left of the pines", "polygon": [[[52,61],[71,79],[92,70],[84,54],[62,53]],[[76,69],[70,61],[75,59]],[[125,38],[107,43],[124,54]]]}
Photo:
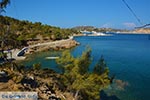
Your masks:
{"label": "brown rocky scrub-dotted ground in the foreground, left of the pines", "polygon": [[[17,69],[16,69],[17,68]],[[60,74],[50,69],[30,69],[5,64],[0,68],[0,92],[37,92],[38,100],[73,100],[59,81]]]}

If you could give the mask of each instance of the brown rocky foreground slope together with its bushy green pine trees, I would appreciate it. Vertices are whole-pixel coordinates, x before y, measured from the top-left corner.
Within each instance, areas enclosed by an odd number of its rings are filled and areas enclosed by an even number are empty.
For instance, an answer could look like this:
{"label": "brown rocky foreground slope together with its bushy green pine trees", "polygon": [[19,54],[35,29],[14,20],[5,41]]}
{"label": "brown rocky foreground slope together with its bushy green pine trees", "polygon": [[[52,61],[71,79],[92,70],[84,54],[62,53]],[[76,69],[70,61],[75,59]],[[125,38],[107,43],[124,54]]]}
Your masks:
{"label": "brown rocky foreground slope together with its bushy green pine trees", "polygon": [[0,75],[0,91],[36,91],[39,99],[47,100],[99,100],[100,90],[111,82],[109,70],[101,57],[90,71],[91,61],[91,50],[77,58],[65,51],[57,59],[61,73],[42,69],[40,63],[31,67],[5,63],[0,66],[5,74]]}

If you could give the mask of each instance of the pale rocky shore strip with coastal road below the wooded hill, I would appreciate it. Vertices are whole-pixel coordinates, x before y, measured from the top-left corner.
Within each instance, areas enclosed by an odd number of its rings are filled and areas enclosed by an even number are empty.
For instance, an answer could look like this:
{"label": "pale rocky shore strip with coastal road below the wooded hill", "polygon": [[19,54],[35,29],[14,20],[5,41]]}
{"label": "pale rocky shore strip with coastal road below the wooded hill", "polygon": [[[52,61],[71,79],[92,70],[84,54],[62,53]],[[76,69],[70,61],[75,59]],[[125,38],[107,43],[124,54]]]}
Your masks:
{"label": "pale rocky shore strip with coastal road below the wooded hill", "polygon": [[64,50],[64,49],[70,49],[73,48],[80,43],[73,40],[73,39],[65,39],[65,40],[57,40],[57,41],[30,41],[25,51],[23,51],[21,56],[18,56],[18,53],[21,52],[21,49],[12,49],[9,52],[7,52],[7,59],[13,59],[13,60],[24,60],[26,59],[25,55],[29,55],[35,52],[42,52],[42,51],[48,51],[48,50]]}

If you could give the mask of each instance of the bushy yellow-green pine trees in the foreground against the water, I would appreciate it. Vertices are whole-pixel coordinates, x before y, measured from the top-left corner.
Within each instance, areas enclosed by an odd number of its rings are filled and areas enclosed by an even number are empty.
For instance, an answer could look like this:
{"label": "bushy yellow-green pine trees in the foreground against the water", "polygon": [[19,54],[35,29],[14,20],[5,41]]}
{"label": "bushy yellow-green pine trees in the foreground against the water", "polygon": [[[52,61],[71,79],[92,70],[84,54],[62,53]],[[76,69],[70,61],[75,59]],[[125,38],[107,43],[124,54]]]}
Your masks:
{"label": "bushy yellow-green pine trees in the foreground against the water", "polygon": [[65,91],[71,92],[75,100],[99,100],[100,90],[110,84],[109,70],[103,57],[94,66],[94,70],[89,71],[91,50],[83,52],[78,58],[65,51],[57,63],[62,69],[60,81],[66,87]]}

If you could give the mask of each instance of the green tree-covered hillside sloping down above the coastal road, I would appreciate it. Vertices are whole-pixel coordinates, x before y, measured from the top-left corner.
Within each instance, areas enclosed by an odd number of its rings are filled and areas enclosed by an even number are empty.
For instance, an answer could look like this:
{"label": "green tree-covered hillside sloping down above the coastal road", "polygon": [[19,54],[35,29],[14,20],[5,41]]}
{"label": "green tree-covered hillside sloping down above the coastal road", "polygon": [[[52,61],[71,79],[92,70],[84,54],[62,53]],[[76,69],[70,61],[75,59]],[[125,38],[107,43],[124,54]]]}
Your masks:
{"label": "green tree-covered hillside sloping down above the coastal road", "polygon": [[0,16],[0,43],[3,42],[3,46],[13,46],[15,48],[27,45],[28,41],[67,39],[77,33],[73,29],[63,29],[44,25],[41,22],[33,23],[27,20],[21,21],[7,16]]}

